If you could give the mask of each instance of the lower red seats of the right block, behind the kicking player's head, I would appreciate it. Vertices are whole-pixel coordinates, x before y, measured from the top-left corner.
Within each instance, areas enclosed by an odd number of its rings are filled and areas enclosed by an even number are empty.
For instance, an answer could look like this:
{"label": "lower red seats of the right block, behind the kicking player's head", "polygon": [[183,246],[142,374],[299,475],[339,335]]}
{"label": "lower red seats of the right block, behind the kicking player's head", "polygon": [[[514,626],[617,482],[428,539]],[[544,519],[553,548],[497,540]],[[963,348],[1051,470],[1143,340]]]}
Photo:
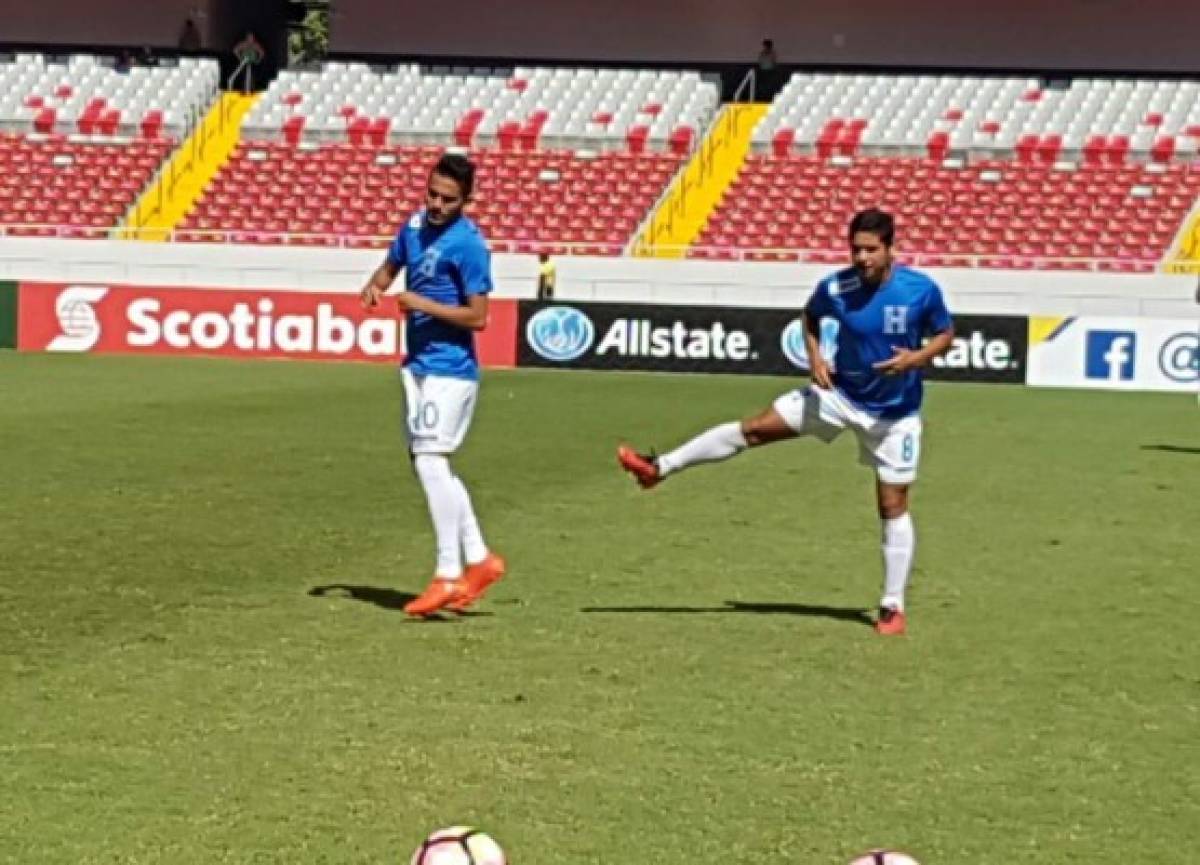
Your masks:
{"label": "lower red seats of the right block, behind the kicking player's head", "polygon": [[[1061,155],[1056,136],[1022,142],[1027,152],[1015,161],[964,168],[943,167],[937,148],[932,160],[856,156],[835,166],[773,146],[745,161],[698,245],[707,258],[736,247],[734,254],[773,260],[784,246],[803,251],[804,260],[838,264],[846,260],[850,217],[881,204],[895,214],[905,248],[944,266],[1086,269],[1110,260],[1126,271],[1153,269],[1200,193],[1200,163],[1147,174],[1109,156],[1114,148],[1126,152],[1128,140],[1097,138],[1093,156],[1074,172],[1050,164]],[[1000,178],[985,182],[984,172]],[[1130,198],[1135,186],[1154,192]],[[748,194],[768,206],[744,209]],[[1073,246],[1080,236],[1096,242]]]}

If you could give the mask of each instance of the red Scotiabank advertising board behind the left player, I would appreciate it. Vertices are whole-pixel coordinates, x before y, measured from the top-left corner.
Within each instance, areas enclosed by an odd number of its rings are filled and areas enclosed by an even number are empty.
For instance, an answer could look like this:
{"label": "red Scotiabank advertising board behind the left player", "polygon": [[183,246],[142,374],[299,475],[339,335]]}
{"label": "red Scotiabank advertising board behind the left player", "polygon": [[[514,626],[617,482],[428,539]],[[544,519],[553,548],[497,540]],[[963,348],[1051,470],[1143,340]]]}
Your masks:
{"label": "red Scotiabank advertising board behind the left player", "polygon": [[[29,352],[229,358],[403,358],[403,325],[385,301],[354,294],[22,283],[17,347]],[[485,366],[516,362],[516,304],[494,300],[476,337]]]}

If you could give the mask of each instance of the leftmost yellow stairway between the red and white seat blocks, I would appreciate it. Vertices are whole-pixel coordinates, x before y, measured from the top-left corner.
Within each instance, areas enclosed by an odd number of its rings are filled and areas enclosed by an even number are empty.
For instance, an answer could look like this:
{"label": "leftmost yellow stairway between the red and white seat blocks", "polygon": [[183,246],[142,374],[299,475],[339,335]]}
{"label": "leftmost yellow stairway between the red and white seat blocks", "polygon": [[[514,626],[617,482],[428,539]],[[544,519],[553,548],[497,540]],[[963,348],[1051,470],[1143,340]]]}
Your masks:
{"label": "leftmost yellow stairway between the red and white seat blocks", "polygon": [[163,167],[158,180],[138,199],[118,236],[149,241],[169,239],[176,223],[229,158],[238,144],[241,119],[256,100],[257,94],[221,94]]}

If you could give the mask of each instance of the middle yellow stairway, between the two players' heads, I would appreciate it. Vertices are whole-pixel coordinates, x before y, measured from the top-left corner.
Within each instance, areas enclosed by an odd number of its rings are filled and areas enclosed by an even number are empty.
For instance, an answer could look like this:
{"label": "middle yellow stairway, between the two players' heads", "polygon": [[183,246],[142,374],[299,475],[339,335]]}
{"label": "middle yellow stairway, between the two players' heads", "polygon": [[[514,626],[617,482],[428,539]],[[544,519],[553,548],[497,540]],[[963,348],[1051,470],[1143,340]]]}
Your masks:
{"label": "middle yellow stairway, between the two players' heads", "polygon": [[721,110],[638,236],[635,254],[683,258],[721,203],[725,190],[738,176],[754,127],[768,108],[766,104],[732,104]]}

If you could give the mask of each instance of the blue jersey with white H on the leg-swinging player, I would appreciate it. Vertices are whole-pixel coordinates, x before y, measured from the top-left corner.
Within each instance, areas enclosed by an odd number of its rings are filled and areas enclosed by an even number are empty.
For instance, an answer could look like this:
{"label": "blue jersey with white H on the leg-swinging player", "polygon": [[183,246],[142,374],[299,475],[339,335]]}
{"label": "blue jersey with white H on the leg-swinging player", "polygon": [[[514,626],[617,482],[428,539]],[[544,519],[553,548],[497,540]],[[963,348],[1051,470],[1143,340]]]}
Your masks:
{"label": "blue jersey with white H on the leg-swinging player", "polygon": [[874,365],[895,348],[919,349],[924,337],[953,326],[942,289],[899,264],[878,288],[853,268],[817,283],[805,312],[838,323],[833,383],[851,402],[878,418],[906,418],[920,409],[922,372],[883,376]]}

